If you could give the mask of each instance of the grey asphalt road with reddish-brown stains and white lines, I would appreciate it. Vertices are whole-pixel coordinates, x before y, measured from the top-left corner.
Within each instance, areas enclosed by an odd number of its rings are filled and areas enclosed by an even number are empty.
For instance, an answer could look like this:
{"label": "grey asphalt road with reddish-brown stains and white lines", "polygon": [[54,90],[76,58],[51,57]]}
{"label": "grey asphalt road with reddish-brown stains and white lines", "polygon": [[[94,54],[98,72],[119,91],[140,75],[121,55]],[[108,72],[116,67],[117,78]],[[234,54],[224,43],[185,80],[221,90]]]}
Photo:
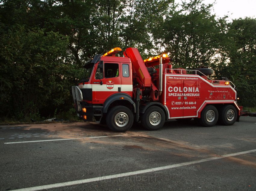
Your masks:
{"label": "grey asphalt road with reddish-brown stains and white lines", "polygon": [[167,121],[114,133],[97,123],[0,126],[0,190],[256,190],[256,118]]}

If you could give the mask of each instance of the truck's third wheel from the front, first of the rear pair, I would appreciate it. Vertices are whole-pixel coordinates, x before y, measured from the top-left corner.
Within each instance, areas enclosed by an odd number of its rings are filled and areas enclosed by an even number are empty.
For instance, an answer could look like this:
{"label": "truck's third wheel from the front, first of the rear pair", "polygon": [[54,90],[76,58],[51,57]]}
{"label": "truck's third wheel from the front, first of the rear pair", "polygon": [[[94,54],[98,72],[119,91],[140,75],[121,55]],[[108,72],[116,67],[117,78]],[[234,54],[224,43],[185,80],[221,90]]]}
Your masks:
{"label": "truck's third wheel from the front, first of the rear pair", "polygon": [[212,127],[218,121],[218,110],[215,106],[208,105],[201,112],[200,124],[205,127]]}

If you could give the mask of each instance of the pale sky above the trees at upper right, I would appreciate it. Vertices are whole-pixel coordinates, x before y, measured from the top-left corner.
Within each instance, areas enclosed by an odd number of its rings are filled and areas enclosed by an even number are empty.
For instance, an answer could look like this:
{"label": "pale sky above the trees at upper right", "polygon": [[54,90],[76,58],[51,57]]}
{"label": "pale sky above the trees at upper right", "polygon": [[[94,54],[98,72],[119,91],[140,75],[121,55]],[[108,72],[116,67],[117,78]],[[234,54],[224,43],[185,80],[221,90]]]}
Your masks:
{"label": "pale sky above the trees at upper right", "polygon": [[[175,0],[179,3],[180,0]],[[188,1],[187,1],[188,2]],[[213,3],[214,0],[204,0],[204,4]],[[217,17],[229,16],[229,19],[239,19],[247,17],[255,18],[256,0],[216,0],[213,13]]]}

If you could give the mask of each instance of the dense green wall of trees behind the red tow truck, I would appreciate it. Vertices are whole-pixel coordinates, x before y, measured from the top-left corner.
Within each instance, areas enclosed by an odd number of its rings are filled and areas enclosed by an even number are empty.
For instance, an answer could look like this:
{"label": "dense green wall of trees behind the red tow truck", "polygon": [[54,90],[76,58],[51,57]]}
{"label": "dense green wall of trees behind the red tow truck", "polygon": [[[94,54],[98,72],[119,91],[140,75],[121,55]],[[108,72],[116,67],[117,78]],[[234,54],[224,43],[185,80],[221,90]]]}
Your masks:
{"label": "dense green wall of trees behind the red tow truck", "polygon": [[256,20],[217,18],[191,0],[0,0],[0,118],[52,117],[72,108],[83,63],[119,46],[174,65],[208,65],[256,106]]}

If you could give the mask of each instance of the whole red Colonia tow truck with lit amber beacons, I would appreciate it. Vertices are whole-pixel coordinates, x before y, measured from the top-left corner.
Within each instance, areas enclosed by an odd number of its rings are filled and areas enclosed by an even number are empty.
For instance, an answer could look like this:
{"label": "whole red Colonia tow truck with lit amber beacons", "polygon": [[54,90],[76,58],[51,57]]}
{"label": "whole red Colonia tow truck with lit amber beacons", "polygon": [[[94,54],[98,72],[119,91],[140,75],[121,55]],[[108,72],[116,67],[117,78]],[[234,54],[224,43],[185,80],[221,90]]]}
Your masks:
{"label": "whole red Colonia tow truck with lit amber beacons", "polygon": [[77,115],[84,121],[106,123],[115,132],[141,121],[148,130],[166,120],[194,118],[206,127],[239,121],[235,85],[207,77],[210,68],[174,69],[166,54],[143,60],[138,49],[114,48],[84,64],[86,78],[72,87]]}

